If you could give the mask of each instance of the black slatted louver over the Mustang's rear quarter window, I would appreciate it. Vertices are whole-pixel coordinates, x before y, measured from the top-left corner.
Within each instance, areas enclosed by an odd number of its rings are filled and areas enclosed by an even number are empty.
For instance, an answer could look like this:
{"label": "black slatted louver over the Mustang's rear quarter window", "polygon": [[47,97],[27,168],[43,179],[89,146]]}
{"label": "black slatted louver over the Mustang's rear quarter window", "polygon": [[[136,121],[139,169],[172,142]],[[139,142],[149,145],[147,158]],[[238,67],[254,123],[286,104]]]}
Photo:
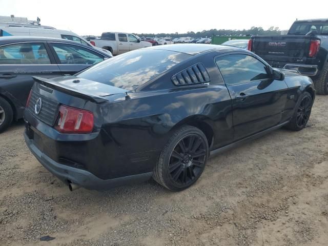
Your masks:
{"label": "black slatted louver over the Mustang's rear quarter window", "polygon": [[197,63],[171,78],[175,86],[188,86],[210,82],[210,76],[202,63]]}

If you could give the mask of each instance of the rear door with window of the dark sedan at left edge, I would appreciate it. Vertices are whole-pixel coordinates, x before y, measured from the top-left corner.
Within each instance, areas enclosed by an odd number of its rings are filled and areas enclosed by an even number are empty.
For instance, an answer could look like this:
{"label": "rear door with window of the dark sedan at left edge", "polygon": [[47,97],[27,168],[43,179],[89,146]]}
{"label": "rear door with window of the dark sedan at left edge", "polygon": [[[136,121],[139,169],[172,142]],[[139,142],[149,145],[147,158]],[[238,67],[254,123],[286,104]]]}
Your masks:
{"label": "rear door with window of the dark sedan at left edge", "polygon": [[10,97],[15,105],[24,108],[32,76],[60,76],[60,70],[47,43],[15,43],[0,47],[0,93]]}

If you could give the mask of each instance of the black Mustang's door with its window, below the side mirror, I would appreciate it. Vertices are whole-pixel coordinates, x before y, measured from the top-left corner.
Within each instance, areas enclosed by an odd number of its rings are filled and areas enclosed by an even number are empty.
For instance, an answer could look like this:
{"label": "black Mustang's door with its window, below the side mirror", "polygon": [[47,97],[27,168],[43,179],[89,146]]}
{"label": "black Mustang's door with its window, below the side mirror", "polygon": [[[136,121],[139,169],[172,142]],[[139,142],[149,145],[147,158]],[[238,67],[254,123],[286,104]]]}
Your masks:
{"label": "black Mustang's door with its window, below the side mirror", "polygon": [[232,99],[235,140],[281,122],[288,87],[272,79],[267,64],[249,54],[228,54],[215,61]]}

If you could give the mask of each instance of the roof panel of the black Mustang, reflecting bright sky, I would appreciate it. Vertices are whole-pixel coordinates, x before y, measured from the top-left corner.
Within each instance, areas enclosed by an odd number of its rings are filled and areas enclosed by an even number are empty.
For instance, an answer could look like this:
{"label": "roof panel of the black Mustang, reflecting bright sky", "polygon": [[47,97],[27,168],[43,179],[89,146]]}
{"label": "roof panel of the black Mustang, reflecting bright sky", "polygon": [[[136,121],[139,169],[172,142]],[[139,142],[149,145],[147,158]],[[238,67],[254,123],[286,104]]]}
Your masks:
{"label": "roof panel of the black Mustang, reflecting bright sky", "polygon": [[151,46],[144,49],[168,50],[189,55],[197,55],[199,53],[216,50],[221,53],[240,51],[240,48],[228,47],[223,45],[208,45],[208,44],[175,44],[166,46]]}

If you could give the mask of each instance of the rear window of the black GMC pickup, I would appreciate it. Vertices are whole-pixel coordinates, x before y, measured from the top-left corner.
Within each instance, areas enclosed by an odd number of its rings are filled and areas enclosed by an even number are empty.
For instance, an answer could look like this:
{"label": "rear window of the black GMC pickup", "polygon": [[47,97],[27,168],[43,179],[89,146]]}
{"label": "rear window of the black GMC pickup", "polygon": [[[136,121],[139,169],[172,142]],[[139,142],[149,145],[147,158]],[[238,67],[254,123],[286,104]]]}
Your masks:
{"label": "rear window of the black GMC pickup", "polygon": [[317,34],[328,35],[328,23],[294,23],[288,34],[305,35],[312,30],[317,31]]}

